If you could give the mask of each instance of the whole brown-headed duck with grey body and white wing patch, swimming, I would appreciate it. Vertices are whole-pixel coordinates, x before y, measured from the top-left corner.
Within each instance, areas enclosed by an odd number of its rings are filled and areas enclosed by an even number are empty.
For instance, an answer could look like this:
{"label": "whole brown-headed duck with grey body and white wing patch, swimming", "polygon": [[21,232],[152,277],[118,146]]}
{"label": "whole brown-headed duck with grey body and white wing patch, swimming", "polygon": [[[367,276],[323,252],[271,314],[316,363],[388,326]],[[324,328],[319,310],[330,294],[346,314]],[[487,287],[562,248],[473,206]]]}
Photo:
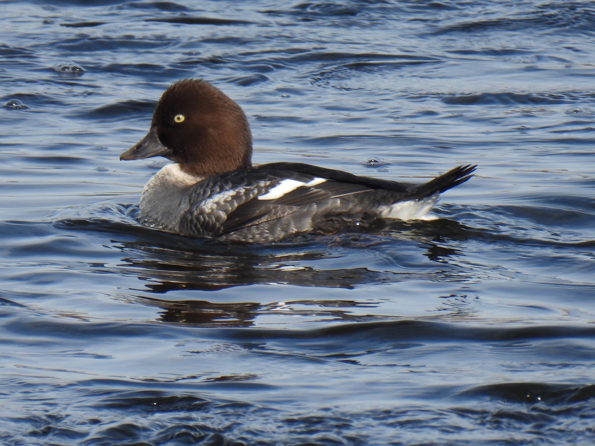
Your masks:
{"label": "whole brown-headed duck with grey body and white wing patch, swimming", "polygon": [[242,108],[196,79],[165,90],[149,133],[120,159],[152,156],[173,164],[143,189],[143,224],[254,242],[330,234],[376,219],[427,219],[439,194],[469,180],[475,170],[462,165],[416,185],[293,162],[252,166],[252,136]]}

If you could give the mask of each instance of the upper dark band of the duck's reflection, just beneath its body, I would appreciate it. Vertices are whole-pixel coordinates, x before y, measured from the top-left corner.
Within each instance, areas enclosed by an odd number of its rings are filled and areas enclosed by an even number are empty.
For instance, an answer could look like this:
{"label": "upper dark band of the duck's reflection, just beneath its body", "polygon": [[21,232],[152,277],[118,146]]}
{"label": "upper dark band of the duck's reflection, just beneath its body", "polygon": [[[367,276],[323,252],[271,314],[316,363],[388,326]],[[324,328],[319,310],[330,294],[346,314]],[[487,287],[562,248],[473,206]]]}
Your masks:
{"label": "upper dark band of the duck's reflection, just beneath its body", "polygon": [[[187,240],[186,244],[136,240],[119,248],[129,255],[124,265],[134,268],[154,293],[173,290],[217,291],[255,284],[285,284],[306,287],[353,288],[359,284],[388,282],[391,272],[374,271],[362,265],[337,269],[333,260],[346,256],[337,242],[321,244],[275,244],[241,246]],[[342,243],[345,240],[342,240]],[[360,243],[363,243],[360,241]],[[367,239],[365,247],[384,243]],[[363,245],[362,245],[363,246]],[[312,266],[312,265],[316,265]],[[124,266],[122,265],[122,266]]]}

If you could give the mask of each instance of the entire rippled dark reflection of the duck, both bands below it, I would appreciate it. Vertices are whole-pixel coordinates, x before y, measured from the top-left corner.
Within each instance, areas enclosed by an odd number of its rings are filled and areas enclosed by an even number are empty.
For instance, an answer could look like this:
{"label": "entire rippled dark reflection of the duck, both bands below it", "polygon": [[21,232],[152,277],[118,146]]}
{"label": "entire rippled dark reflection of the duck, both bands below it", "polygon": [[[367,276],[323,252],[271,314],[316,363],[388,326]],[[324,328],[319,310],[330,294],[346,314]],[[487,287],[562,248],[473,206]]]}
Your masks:
{"label": "entire rippled dark reflection of the duck, both bands below it", "polygon": [[[397,224],[377,234],[301,236],[269,245],[217,243],[149,231],[133,240],[112,243],[126,254],[119,268],[127,275],[134,271],[144,282],[143,289],[136,290],[135,296],[129,294],[129,299],[161,308],[160,321],[193,326],[250,326],[257,316],[281,313],[318,320],[361,320],[364,316],[361,311],[354,311],[356,307],[379,304],[371,301],[368,293],[358,293],[365,301],[320,299],[325,294],[320,290],[461,274],[462,269],[451,265],[449,259],[460,254],[449,246],[454,238],[463,238],[459,230],[459,225],[452,222]],[[283,288],[271,287],[270,299],[260,300],[261,303],[230,301],[228,294],[221,299],[219,293],[212,295],[216,299],[205,299],[210,294],[194,293],[192,296],[197,299],[180,300],[186,294],[176,293],[271,284],[319,290],[313,290],[308,299],[289,300],[278,294],[283,293]],[[245,300],[259,300],[253,293],[254,290],[246,293]],[[161,299],[156,294],[168,297]],[[233,300],[237,296],[234,294]],[[262,303],[266,300],[273,303]]]}

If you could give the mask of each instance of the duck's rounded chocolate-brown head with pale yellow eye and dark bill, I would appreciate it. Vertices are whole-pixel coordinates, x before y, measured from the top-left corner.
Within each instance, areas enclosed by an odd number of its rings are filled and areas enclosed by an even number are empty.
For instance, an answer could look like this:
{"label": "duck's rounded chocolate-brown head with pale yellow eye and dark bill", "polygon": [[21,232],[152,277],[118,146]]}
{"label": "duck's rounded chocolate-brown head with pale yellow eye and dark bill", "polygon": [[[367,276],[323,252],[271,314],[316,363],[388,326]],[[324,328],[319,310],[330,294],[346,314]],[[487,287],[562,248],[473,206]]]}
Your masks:
{"label": "duck's rounded chocolate-brown head with pale yellow eye and dark bill", "polygon": [[165,156],[209,177],[252,165],[252,136],[242,108],[206,81],[184,79],[161,96],[151,130],[120,159]]}

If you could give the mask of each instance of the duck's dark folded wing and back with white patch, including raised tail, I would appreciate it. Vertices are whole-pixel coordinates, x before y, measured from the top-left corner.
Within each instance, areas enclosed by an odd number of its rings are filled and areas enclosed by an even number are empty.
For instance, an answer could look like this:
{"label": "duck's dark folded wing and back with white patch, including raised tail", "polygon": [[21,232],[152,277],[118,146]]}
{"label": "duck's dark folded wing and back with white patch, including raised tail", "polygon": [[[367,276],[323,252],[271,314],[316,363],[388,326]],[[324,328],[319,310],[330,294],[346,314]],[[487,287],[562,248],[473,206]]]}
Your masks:
{"label": "duck's dark folded wing and back with white patch, including raised tail", "polygon": [[[422,199],[464,183],[474,170],[475,166],[463,165],[427,183],[411,185],[308,164],[264,164],[215,175],[196,184],[189,194],[189,209],[181,218],[180,231],[209,236],[231,233],[290,215],[312,203],[370,191],[381,191],[387,204]],[[297,183],[293,183],[293,189],[270,194],[286,180]]]}

